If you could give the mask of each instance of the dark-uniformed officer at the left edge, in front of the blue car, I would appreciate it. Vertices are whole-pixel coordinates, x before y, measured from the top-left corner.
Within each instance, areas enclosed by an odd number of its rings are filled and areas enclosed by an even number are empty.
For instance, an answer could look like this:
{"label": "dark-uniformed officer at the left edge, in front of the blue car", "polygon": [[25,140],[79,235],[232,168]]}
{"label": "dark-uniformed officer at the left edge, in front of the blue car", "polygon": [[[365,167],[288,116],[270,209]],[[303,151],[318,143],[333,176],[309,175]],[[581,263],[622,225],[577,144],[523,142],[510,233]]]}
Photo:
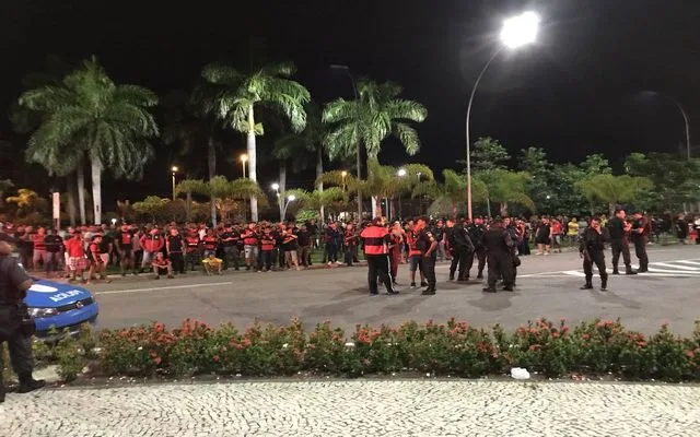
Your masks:
{"label": "dark-uniformed officer at the left edge, in front of the blue car", "polygon": [[[32,279],[11,256],[13,247],[0,241],[0,368],[2,363],[2,343],[8,342],[10,362],[20,378],[20,393],[28,393],[44,387],[43,380],[32,378],[34,359],[30,336],[33,321],[28,321],[27,308],[23,299],[32,286]],[[4,382],[0,373],[0,402],[4,401]]]}

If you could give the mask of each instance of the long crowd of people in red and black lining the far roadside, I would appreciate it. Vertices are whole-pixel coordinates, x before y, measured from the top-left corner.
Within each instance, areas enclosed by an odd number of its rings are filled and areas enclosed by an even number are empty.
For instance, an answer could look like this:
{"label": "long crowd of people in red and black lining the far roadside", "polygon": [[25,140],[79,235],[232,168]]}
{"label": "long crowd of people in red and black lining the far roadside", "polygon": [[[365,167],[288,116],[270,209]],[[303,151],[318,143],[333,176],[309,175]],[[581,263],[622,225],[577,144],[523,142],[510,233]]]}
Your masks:
{"label": "long crowd of people in red and black lining the far roadside", "polygon": [[[488,260],[488,265],[494,265],[494,272],[498,271],[493,274],[503,281],[504,288],[512,290],[516,264],[521,256],[530,255],[530,245],[534,245],[536,256],[561,252],[562,246],[574,246],[597,226],[611,229],[607,234],[614,235],[606,238],[614,249],[614,273],[618,271],[620,255],[629,273],[629,249],[623,251],[618,244],[619,233],[615,231],[620,220],[617,214],[610,220],[606,216],[540,216],[532,220],[476,217],[474,221],[425,218],[383,222],[382,227],[386,228],[389,240],[382,255],[388,256],[388,275],[394,285],[397,284],[398,265],[401,263],[408,264],[412,288],[420,285],[434,293],[431,272],[434,262],[451,261],[450,280],[468,281],[475,260],[477,279],[483,277]],[[680,215],[669,227],[665,227],[662,220],[644,220],[646,238],[653,239],[663,231],[675,229],[684,243],[688,237],[695,237],[700,244],[700,216],[693,221]],[[377,223],[329,221],[319,225],[314,220],[304,223],[261,221],[225,223],[217,227],[205,223],[124,223],[68,227],[56,232],[49,227],[35,229],[3,223],[0,239],[12,240],[16,245],[22,263],[30,270],[43,269],[49,277],[66,275],[71,281],[89,282],[109,281],[106,274],[109,265],[118,268],[122,275],[152,272],[154,279],[174,277],[198,268],[206,274],[221,274],[230,269],[255,272],[310,269],[312,252],[319,248],[323,249],[323,264],[351,267],[360,261],[360,248],[366,251],[366,238],[362,233],[372,225]],[[506,234],[508,238],[488,235],[491,229],[497,229],[500,236]],[[365,259],[368,255],[376,253],[365,253]],[[592,261],[595,263],[595,259]],[[512,265],[505,269],[501,264]],[[489,281],[487,291],[494,288],[495,281]],[[371,286],[371,290],[374,288]]]}

